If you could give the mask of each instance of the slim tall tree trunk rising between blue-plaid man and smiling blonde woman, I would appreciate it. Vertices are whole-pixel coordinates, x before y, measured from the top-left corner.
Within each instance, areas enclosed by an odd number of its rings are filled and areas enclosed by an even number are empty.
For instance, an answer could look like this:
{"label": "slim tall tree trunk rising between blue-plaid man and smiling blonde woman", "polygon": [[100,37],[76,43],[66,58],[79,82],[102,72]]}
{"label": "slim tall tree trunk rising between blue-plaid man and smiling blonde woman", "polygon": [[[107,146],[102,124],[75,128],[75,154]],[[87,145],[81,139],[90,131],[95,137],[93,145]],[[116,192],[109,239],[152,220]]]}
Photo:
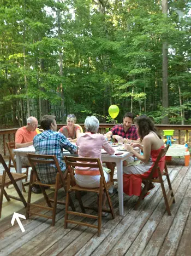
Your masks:
{"label": "slim tall tree trunk rising between blue-plaid man and smiling blonde woman", "polygon": [[[58,3],[60,3],[59,0],[57,0]],[[58,39],[62,39],[61,35],[61,15],[59,12],[59,8],[57,9],[57,20],[58,20]],[[63,77],[63,60],[62,60],[62,47],[59,48],[59,75]],[[61,83],[60,85],[61,90],[61,121],[64,123],[64,87]]]}

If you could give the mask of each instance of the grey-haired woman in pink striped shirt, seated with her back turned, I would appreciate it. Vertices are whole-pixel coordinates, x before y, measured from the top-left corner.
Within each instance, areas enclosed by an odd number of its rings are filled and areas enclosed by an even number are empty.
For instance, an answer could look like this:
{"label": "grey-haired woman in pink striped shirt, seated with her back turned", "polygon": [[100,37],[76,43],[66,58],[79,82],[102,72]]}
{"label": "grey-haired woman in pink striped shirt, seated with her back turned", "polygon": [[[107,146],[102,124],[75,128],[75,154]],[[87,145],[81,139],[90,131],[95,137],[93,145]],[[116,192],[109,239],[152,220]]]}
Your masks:
{"label": "grey-haired woman in pink striped shirt, seated with her back turned", "polygon": [[[102,149],[109,155],[113,155],[115,150],[109,145],[103,134],[97,133],[99,129],[99,121],[94,116],[88,116],[85,120],[85,133],[80,133],[77,138],[77,151],[79,157],[96,157],[102,163]],[[103,167],[106,183],[110,180],[110,174],[106,172],[108,168]],[[99,187],[100,174],[99,170],[90,168],[84,170],[83,167],[76,167],[75,171],[76,184],[81,187]],[[103,208],[105,208],[106,195],[103,198]],[[106,215],[103,213],[103,215]]]}

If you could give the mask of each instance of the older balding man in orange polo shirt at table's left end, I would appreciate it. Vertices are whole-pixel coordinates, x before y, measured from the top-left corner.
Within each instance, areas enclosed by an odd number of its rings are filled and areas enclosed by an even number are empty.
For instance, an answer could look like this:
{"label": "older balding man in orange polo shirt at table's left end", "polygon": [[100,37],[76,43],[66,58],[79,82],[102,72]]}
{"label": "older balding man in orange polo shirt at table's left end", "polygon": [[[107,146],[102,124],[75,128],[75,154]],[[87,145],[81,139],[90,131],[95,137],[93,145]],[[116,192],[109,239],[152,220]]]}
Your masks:
{"label": "older balding man in orange polo shirt at table's left end", "polygon": [[[37,118],[30,116],[27,118],[27,125],[19,128],[15,134],[15,147],[19,149],[20,147],[28,147],[33,145],[33,138],[37,135]],[[30,166],[28,158],[26,156],[21,156],[21,162],[25,166]]]}

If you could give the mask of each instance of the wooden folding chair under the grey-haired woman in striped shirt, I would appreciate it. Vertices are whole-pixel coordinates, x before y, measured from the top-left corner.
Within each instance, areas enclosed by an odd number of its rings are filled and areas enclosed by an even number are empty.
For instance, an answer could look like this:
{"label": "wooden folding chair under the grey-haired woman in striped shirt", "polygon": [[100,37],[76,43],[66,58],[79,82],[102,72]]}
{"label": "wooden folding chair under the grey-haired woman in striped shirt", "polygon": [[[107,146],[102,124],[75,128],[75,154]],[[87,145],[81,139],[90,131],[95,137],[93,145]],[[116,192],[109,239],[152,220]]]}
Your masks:
{"label": "wooden folding chair under the grey-haired woman in striped shirt", "polygon": [[[108,192],[109,187],[112,185],[112,181],[109,181],[108,183],[106,183],[104,173],[103,173],[102,164],[100,163],[99,158],[81,158],[81,157],[64,156],[64,161],[69,170],[68,178],[67,178],[67,198],[66,198],[66,204],[65,204],[64,229],[67,229],[68,223],[73,223],[73,224],[88,226],[88,227],[94,227],[94,228],[98,229],[98,236],[100,236],[101,226],[102,226],[102,212],[111,213],[112,218],[115,219],[114,208],[112,207],[111,199],[110,199],[109,192]],[[80,187],[80,186],[76,185],[75,178],[73,175],[73,170],[72,170],[72,168],[76,167],[76,166],[77,167],[99,168],[99,172],[100,172],[100,176],[101,176],[100,177],[100,187],[95,188],[95,189],[89,189],[87,187]],[[70,187],[70,179],[72,181],[71,187]],[[71,191],[76,192],[76,195],[79,198],[80,206],[82,208],[82,213],[68,211],[69,193]],[[94,208],[83,206],[79,191],[96,192],[97,194],[99,194],[98,215],[91,215],[91,214],[85,213],[85,209],[94,209]],[[109,203],[110,209],[102,209],[102,197],[103,197],[104,191],[106,193],[106,197],[108,198],[108,203]],[[68,219],[69,214],[86,217],[86,218],[98,219],[98,225],[83,223],[83,222],[79,222],[79,221],[75,221],[75,220],[69,220]]]}

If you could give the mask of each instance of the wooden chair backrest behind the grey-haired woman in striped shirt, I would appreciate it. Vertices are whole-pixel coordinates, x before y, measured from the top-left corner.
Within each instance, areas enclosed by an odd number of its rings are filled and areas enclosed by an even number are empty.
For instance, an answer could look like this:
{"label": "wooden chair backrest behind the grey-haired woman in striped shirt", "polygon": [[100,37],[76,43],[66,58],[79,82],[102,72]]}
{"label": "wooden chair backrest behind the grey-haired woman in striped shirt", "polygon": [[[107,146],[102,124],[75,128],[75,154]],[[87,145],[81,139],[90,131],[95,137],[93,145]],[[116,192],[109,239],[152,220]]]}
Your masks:
{"label": "wooden chair backrest behind the grey-haired woman in striped shirt", "polygon": [[[64,161],[72,177],[73,177],[72,168],[75,168],[75,167],[99,168],[100,175],[101,177],[103,177],[103,183],[106,186],[104,172],[103,172],[102,164],[99,158],[64,156]],[[83,170],[83,171],[88,172],[88,170]]]}

